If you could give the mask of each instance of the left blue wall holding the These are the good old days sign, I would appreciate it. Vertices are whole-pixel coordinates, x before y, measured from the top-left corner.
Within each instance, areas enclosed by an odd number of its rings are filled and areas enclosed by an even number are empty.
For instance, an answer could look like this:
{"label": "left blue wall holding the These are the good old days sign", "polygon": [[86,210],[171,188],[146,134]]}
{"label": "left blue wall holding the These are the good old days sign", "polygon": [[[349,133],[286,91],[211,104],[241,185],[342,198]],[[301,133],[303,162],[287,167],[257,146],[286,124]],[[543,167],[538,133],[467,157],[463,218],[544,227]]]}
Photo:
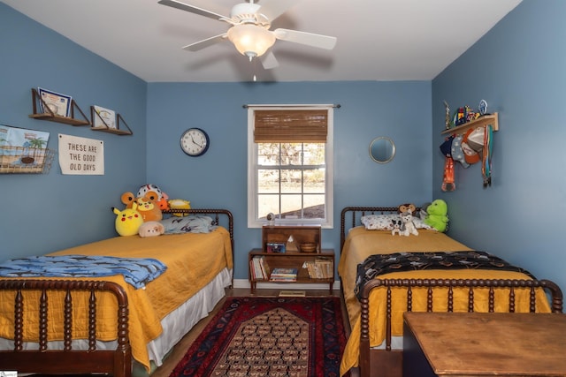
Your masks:
{"label": "left blue wall holding the These are the good old days sign", "polygon": [[[120,194],[145,183],[147,84],[60,34],[0,3],[0,124],[104,142],[105,175],[0,174],[0,260],[48,253],[116,234],[111,207]],[[90,106],[115,109],[134,136],[93,132],[28,117],[32,87],[70,94]],[[75,114],[75,116],[77,116]]]}

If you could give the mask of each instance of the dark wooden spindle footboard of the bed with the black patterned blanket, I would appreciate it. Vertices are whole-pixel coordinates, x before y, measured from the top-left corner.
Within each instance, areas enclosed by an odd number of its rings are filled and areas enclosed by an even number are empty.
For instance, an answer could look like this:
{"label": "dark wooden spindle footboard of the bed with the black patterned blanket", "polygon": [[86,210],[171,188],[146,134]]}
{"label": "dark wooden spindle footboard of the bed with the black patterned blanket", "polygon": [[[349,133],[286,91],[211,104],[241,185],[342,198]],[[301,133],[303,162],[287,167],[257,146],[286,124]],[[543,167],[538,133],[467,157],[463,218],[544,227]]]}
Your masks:
{"label": "dark wooden spindle footboard of the bed with the black patterned blanket", "polygon": [[[370,292],[379,287],[386,287],[386,349],[372,350],[370,347]],[[562,313],[562,290],[557,284],[549,280],[482,280],[482,279],[375,279],[365,284],[361,298],[361,338],[360,338],[360,375],[369,376],[401,376],[402,375],[402,351],[391,349],[391,308],[392,289],[402,288],[406,290],[407,311],[412,310],[412,289],[425,288],[427,290],[427,312],[432,312],[432,289],[447,288],[447,311],[451,312],[454,305],[453,289],[464,288],[469,290],[468,307],[469,312],[474,308],[474,290],[477,288],[488,289],[489,312],[493,312],[495,306],[495,290],[509,289],[509,298],[505,302],[509,306],[509,313],[515,312],[515,294],[518,290],[528,290],[530,298],[530,312],[536,311],[536,290],[542,288],[551,297],[551,310],[553,313]]]}

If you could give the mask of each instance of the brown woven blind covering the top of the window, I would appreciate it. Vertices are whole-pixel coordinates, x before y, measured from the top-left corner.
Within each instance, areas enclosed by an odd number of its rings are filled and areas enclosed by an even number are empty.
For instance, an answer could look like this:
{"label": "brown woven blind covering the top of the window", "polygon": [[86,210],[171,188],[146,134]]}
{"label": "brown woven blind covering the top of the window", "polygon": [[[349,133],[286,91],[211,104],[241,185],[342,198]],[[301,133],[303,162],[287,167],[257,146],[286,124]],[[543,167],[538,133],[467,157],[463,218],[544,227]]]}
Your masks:
{"label": "brown woven blind covering the top of the window", "polygon": [[256,143],[325,143],[327,109],[256,109]]}

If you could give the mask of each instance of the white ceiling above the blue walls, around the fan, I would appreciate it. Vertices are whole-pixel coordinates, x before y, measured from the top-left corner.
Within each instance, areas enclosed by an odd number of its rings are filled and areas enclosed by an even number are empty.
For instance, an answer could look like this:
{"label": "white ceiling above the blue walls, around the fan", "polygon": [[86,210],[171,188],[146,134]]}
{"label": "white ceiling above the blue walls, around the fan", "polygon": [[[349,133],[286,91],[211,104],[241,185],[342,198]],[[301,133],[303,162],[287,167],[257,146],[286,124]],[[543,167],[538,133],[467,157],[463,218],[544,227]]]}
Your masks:
{"label": "white ceiling above the blue walls, around the fan", "polygon": [[[521,0],[302,0],[272,23],[338,38],[333,50],[276,41],[264,70],[224,41],[228,24],[157,0],[2,0],[148,81],[431,80]],[[240,0],[181,0],[226,16]],[[285,1],[285,0],[280,0]],[[261,4],[261,2],[259,2]]]}

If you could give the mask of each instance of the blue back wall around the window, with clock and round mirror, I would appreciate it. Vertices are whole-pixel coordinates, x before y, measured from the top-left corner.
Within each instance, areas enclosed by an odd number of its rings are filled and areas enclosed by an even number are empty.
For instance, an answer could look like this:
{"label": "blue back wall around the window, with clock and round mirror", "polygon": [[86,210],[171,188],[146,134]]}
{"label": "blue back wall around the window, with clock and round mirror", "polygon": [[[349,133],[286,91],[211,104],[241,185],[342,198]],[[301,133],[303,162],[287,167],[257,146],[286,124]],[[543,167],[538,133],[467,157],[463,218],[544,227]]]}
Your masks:
{"label": "blue back wall around the window, with clock and round mirror", "polygon": [[[340,210],[368,203],[424,203],[432,195],[430,82],[149,84],[148,183],[193,207],[226,207],[235,218],[235,277],[248,276],[248,252],[261,230],[247,228],[247,103],[339,103],[334,109],[334,228],[323,246],[340,248]],[[180,135],[210,135],[209,151],[188,157]],[[371,161],[370,142],[394,139],[393,162]]]}

